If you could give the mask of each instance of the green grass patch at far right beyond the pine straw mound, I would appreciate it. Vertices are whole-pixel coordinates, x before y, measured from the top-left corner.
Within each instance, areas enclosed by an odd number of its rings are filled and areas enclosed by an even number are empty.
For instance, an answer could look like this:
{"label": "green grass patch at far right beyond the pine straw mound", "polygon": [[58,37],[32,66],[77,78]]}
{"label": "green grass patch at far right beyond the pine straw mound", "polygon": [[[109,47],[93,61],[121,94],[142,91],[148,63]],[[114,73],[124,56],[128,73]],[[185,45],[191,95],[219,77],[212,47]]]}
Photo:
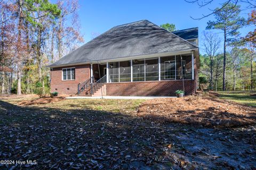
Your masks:
{"label": "green grass patch at far right beyond the pine straw mound", "polygon": [[237,103],[256,107],[256,91],[218,91],[220,99],[235,101]]}

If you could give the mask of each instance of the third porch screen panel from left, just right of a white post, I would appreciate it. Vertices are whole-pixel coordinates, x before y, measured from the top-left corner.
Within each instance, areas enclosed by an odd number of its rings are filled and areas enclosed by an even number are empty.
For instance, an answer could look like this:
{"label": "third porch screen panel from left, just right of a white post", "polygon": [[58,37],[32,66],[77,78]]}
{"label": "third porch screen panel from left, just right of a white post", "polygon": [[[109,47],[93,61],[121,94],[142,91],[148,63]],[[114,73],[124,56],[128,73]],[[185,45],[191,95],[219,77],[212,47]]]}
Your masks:
{"label": "third porch screen panel from left, just right of a white post", "polygon": [[145,59],[132,61],[132,81],[145,81]]}

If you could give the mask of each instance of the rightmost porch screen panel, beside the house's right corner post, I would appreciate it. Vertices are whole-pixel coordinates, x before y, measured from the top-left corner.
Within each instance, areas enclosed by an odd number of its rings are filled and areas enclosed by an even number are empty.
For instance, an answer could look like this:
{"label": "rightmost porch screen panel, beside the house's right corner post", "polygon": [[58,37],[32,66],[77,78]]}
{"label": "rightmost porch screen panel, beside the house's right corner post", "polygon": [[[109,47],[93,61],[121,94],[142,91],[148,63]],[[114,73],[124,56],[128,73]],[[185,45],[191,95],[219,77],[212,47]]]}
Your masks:
{"label": "rightmost porch screen panel, beside the house's right corner post", "polygon": [[177,63],[176,79],[181,80],[182,75],[183,75],[183,79],[192,79],[191,54],[177,55],[176,63]]}

